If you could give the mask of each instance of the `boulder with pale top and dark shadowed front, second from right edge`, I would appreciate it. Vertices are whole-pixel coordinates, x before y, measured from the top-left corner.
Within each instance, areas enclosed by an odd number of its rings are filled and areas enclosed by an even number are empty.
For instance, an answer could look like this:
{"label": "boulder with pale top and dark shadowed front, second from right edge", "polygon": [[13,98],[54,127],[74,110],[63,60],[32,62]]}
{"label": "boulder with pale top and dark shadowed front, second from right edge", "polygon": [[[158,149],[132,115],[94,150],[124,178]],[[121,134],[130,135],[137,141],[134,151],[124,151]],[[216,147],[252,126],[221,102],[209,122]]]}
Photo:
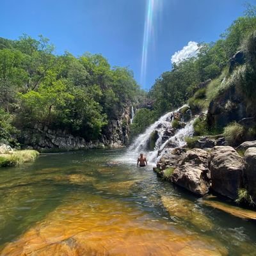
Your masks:
{"label": "boulder with pale top and dark shadowed front, second from right edge", "polygon": [[232,147],[214,147],[210,170],[212,189],[235,200],[238,189],[243,187],[243,158]]}

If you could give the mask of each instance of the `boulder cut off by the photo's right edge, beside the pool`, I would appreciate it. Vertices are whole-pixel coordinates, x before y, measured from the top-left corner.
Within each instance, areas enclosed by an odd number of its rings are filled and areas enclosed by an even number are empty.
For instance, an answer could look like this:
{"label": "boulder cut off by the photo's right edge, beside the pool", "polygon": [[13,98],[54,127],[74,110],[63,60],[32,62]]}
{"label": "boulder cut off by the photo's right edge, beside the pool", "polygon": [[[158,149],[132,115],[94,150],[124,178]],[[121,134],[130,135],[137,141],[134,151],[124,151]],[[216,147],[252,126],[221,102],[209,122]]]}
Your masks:
{"label": "boulder cut off by the photo's right edge, beside the pool", "polygon": [[248,148],[244,153],[244,175],[249,195],[256,200],[256,147]]}

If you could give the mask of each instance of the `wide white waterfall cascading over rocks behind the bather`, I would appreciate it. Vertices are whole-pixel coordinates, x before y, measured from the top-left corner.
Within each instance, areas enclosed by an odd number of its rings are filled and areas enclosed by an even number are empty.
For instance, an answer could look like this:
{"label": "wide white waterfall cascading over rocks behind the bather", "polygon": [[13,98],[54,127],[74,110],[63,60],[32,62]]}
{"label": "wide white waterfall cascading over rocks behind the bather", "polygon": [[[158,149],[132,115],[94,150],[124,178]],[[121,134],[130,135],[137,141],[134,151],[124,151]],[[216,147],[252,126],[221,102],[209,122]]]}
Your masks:
{"label": "wide white waterfall cascading over rocks behind the bather", "polygon": [[[184,146],[186,144],[184,138],[193,135],[193,122],[195,119],[190,120],[183,128],[178,130],[172,127],[172,120],[175,113],[179,113],[180,109],[186,106],[188,105],[184,105],[175,111],[161,116],[159,120],[150,125],[143,134],[140,134],[136,140],[134,140],[131,146],[127,148],[124,157],[119,160],[135,163],[140,153],[143,153],[147,157],[148,163],[155,164],[159,157],[172,150],[172,148]],[[181,116],[181,120],[182,118]],[[155,132],[158,137],[157,140],[154,141],[154,149],[148,147],[150,136],[152,136],[153,132]]]}

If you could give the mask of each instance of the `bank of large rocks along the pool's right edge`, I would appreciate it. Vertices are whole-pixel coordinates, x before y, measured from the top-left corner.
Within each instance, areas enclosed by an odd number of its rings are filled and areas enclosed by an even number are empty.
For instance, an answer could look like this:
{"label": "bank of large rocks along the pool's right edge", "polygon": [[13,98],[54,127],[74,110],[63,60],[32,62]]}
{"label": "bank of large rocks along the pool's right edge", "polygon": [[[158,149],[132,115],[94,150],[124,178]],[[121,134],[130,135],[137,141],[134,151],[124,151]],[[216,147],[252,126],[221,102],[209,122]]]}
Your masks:
{"label": "bank of large rocks along the pool's right edge", "polygon": [[[216,146],[218,141],[220,139],[200,138],[195,141],[198,148],[174,148],[159,159],[154,171],[196,195],[212,192],[254,206],[256,141],[246,141],[237,150]],[[205,148],[205,145],[214,147]]]}

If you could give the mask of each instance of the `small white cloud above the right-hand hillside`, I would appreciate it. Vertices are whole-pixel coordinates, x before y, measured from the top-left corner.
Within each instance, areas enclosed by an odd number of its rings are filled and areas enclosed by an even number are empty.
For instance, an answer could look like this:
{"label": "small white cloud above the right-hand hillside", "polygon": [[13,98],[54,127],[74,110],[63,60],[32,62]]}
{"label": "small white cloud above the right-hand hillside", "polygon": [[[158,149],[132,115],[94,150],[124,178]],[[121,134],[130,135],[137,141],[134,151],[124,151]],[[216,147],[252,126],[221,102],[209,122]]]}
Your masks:
{"label": "small white cloud above the right-hand hillside", "polygon": [[172,63],[179,63],[190,57],[195,57],[197,55],[198,44],[196,42],[190,41],[188,45],[184,46],[182,50],[175,52],[172,56]]}

